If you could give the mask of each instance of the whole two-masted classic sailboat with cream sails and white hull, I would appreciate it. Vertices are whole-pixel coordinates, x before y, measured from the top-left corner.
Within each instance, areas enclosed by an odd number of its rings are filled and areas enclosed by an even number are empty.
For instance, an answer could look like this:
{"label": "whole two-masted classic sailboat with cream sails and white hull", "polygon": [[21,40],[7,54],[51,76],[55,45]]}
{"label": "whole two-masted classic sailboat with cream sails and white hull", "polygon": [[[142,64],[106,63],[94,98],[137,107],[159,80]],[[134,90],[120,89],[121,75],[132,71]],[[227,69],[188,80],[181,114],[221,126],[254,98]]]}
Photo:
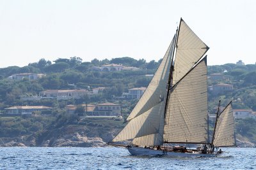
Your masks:
{"label": "whole two-masted classic sailboat with cream sails and white hull", "polygon": [[[209,139],[207,55],[209,47],[180,18],[179,28],[147,89],[108,144],[131,155],[214,156],[216,147],[234,146],[232,103],[217,113]],[[127,144],[124,144],[127,143]],[[185,146],[204,145],[195,149]]]}

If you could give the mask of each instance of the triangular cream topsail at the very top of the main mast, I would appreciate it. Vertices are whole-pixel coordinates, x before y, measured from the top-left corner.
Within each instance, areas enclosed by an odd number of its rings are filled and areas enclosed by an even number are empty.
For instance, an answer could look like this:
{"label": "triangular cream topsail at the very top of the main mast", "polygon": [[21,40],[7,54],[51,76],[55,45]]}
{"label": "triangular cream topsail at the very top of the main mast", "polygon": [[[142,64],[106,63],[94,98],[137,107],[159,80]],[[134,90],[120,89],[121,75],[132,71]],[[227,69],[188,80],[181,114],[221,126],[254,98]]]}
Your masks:
{"label": "triangular cream topsail at the very top of the main mast", "polygon": [[209,47],[181,19],[176,45],[173,84],[188,73],[208,49]]}

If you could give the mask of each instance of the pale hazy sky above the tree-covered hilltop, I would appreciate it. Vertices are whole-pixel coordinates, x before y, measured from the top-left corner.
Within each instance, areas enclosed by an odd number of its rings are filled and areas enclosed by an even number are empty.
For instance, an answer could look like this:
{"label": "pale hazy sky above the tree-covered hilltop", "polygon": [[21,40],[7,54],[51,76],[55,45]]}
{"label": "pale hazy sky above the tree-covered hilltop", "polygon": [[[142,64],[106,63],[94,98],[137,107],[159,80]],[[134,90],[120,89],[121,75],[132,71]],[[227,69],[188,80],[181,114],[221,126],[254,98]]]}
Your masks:
{"label": "pale hazy sky above the tree-covered hilltop", "polygon": [[74,56],[159,60],[180,17],[210,47],[209,65],[255,64],[253,0],[0,0],[0,67]]}

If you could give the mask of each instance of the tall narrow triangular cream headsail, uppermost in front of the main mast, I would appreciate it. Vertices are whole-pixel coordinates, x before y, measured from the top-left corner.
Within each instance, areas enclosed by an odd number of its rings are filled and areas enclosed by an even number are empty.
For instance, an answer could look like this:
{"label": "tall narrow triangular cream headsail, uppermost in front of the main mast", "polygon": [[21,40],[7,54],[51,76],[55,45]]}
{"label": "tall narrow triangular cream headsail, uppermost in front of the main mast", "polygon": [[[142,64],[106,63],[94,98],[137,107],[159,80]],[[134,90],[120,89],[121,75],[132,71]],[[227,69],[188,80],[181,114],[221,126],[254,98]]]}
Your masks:
{"label": "tall narrow triangular cream headsail, uppermost in front of the main mast", "polygon": [[168,50],[165,53],[161,64],[159,65],[156,73],[154,74],[154,77],[150,81],[147,89],[141,96],[140,101],[138,101],[129,117],[127,117],[127,121],[131,120],[134,117],[138,117],[142,113],[145,113],[150,108],[156,106],[159,101],[163,101],[163,97],[166,95],[166,86],[170,74],[172,53],[175,43],[174,39],[175,37],[173,37],[172,43],[168,47]]}

